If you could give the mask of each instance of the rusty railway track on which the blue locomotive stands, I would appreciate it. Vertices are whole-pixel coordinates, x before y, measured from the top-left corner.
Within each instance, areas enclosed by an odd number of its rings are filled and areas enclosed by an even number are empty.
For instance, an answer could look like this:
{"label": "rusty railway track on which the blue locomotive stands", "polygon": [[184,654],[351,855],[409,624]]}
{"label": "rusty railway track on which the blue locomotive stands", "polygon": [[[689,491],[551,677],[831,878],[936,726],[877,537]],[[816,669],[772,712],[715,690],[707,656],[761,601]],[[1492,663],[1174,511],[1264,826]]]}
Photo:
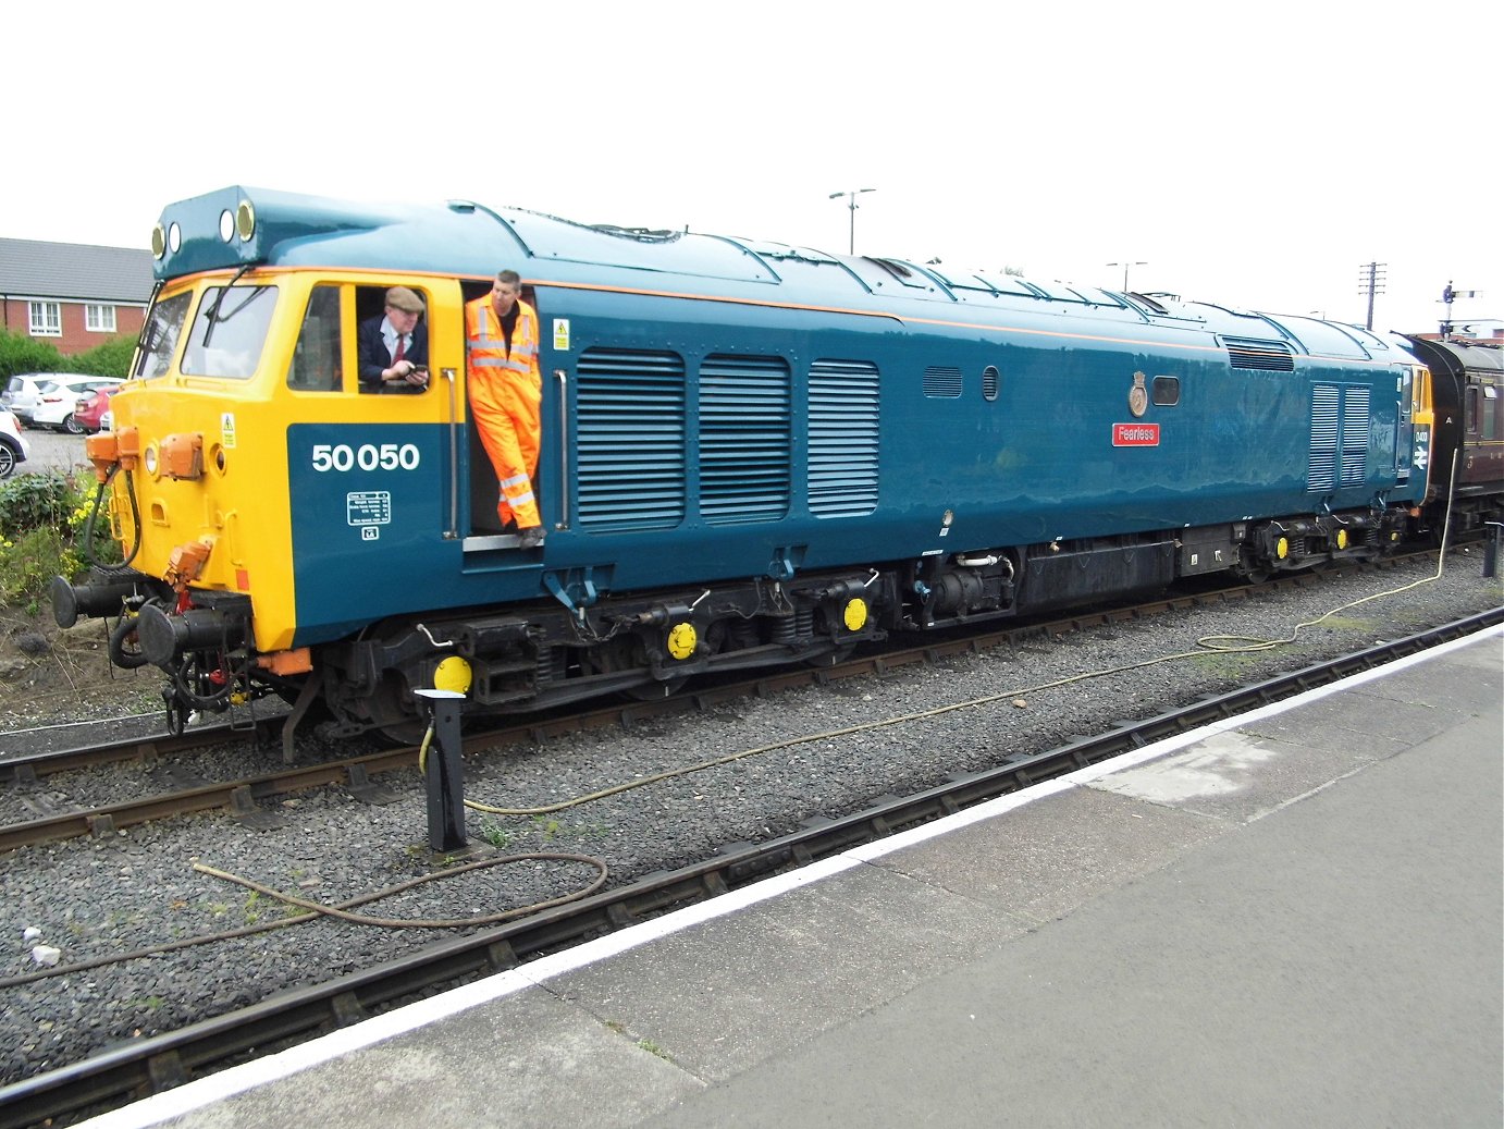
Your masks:
{"label": "rusty railway track on which the blue locomotive stands", "polygon": [[[1388,561],[1363,566],[1363,571],[1388,568]],[[704,711],[723,701],[752,695],[773,695],[799,686],[829,683],[850,677],[880,676],[889,671],[922,662],[979,653],[1000,646],[1018,646],[1032,638],[1059,637],[1083,632],[1104,625],[1149,619],[1172,611],[1226,604],[1256,598],[1260,593],[1277,593],[1286,587],[1307,587],[1322,578],[1351,575],[1354,569],[1333,569],[1325,574],[1301,574],[1271,581],[1262,586],[1220,587],[1208,592],[1178,595],[1120,608],[1075,611],[1062,619],[1036,623],[1011,623],[1006,628],[984,632],[926,637],[911,646],[889,647],[881,652],[850,658],[830,667],[799,667],[755,677],[738,677],[716,685],[698,685],[678,694],[632,703],[612,703],[594,709],[573,709],[555,715],[534,715],[516,723],[474,732],[465,738],[465,753],[475,754],[489,748],[505,747],[523,741],[541,742],[567,733],[578,733],[671,717],[690,711]],[[107,765],[135,762],[155,765],[174,757],[209,748],[227,741],[253,741],[259,748],[274,748],[281,741],[283,717],[257,720],[250,727],[232,729],[212,726],[183,733],[155,733],[146,738],[101,742],[98,745],[60,750],[51,753],[23,754],[0,760],[0,786],[23,795],[36,795],[42,780],[66,772],[87,771]],[[418,766],[418,748],[391,748],[362,753],[353,757],[323,760],[308,765],[280,766],[263,774],[211,781],[188,775],[171,792],[147,796],[123,796],[95,807],[66,807],[54,810],[45,798],[33,799],[29,807],[41,808],[35,819],[0,826],[0,851],[15,851],[23,846],[74,838],[80,835],[107,835],[122,828],[158,819],[224,810],[244,822],[275,820],[268,810],[278,799],[316,787],[344,787],[365,802],[385,802],[391,793],[376,783],[384,774],[412,772]]]}

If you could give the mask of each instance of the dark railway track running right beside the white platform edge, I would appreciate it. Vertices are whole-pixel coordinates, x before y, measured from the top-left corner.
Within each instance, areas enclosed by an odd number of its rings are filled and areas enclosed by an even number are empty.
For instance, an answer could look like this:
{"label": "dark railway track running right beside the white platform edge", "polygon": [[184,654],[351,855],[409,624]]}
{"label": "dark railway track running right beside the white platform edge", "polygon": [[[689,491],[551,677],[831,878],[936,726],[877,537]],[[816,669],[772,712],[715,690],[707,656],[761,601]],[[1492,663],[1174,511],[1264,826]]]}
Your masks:
{"label": "dark railway track running right beside the white platform edge", "polygon": [[1119,753],[1236,717],[1501,622],[1504,608],[1492,608],[1044,753],[1015,756],[997,751],[994,768],[949,780],[938,787],[886,799],[842,819],[812,820],[793,834],[764,843],[732,844],[713,858],[672,873],[654,875],[516,923],[430,945],[400,960],[287,992],[179,1031],[137,1040],[0,1088],[0,1129],[20,1129],[47,1123],[47,1118],[117,1108],[247,1057],[269,1054],[358,1022],[418,994],[513,968],[535,956],[735,890],[766,875],[806,866],[856,844],[1027,789]]}

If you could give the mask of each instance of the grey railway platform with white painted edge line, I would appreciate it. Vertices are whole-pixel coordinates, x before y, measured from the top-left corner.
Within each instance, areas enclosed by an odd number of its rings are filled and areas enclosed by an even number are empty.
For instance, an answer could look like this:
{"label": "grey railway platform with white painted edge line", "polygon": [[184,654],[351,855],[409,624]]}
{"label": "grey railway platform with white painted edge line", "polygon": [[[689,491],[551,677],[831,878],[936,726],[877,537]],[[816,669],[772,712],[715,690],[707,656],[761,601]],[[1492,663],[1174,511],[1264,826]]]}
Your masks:
{"label": "grey railway platform with white painted edge line", "polygon": [[1504,629],[95,1118],[1498,1126]]}

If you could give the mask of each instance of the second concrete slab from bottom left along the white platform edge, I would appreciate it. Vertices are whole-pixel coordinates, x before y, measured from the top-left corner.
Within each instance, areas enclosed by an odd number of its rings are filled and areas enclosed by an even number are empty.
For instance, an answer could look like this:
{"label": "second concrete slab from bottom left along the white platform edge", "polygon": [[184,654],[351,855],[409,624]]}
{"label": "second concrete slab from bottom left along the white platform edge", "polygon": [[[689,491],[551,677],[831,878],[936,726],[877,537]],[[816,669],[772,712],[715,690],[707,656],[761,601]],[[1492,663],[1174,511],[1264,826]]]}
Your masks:
{"label": "second concrete slab from bottom left along the white platform edge", "polygon": [[1026,930],[969,897],[862,866],[550,987],[698,1078],[723,1079]]}

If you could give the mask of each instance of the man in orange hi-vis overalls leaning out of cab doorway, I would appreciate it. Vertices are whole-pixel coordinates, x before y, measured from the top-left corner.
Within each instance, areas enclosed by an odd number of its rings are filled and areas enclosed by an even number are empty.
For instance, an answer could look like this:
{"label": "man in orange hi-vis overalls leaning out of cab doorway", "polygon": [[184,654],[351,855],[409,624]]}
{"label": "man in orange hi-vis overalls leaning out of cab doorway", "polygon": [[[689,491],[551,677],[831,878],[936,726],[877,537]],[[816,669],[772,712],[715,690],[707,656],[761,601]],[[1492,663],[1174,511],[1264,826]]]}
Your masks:
{"label": "man in orange hi-vis overalls leaning out of cab doorway", "polygon": [[490,294],[465,303],[471,414],[496,468],[501,522],[517,522],[517,546],[543,543],[532,479],[538,473],[538,315],[522,301],[522,278],[501,271]]}

